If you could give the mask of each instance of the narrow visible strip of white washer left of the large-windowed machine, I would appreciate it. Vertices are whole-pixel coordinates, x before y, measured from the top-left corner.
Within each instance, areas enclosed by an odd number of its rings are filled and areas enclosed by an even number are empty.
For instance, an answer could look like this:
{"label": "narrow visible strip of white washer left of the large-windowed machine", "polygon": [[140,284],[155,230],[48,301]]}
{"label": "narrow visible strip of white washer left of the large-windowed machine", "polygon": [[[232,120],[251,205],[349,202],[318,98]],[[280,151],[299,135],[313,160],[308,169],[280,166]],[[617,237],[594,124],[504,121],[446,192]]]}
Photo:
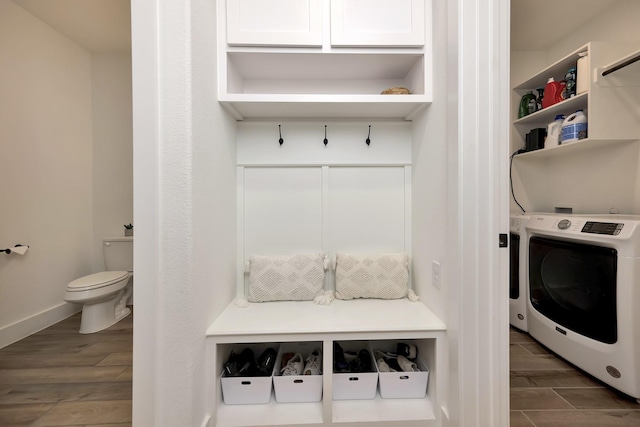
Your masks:
{"label": "narrow visible strip of white washer left of the large-windowed machine", "polygon": [[511,214],[509,221],[509,323],[524,332],[527,322],[527,295],[529,277],[529,239],[527,221],[529,214]]}

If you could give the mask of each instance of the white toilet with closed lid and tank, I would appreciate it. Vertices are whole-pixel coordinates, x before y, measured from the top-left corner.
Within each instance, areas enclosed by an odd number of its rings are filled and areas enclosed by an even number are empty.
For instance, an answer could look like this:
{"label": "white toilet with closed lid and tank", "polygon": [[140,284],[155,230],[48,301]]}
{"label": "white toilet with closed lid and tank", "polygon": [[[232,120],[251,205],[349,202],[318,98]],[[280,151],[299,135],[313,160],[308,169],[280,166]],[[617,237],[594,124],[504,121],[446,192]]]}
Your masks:
{"label": "white toilet with closed lid and tank", "polygon": [[69,283],[64,297],[83,304],[81,334],[101,331],[131,313],[127,301],[133,291],[133,237],[104,239],[102,249],[107,271]]}

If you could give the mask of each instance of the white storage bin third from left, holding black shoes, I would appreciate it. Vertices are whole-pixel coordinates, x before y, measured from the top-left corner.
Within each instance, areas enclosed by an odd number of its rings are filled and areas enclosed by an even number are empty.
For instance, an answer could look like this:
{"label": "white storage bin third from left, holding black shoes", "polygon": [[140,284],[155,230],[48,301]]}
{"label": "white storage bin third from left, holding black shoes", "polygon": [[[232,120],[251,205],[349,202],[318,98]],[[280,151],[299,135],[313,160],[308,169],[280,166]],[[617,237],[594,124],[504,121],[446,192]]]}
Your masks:
{"label": "white storage bin third from left, holding black shoes", "polygon": [[361,349],[366,349],[371,355],[371,367],[375,372],[334,372],[333,400],[375,399],[378,388],[378,372],[369,343],[367,341],[340,341],[338,344],[344,351],[354,351],[356,354]]}

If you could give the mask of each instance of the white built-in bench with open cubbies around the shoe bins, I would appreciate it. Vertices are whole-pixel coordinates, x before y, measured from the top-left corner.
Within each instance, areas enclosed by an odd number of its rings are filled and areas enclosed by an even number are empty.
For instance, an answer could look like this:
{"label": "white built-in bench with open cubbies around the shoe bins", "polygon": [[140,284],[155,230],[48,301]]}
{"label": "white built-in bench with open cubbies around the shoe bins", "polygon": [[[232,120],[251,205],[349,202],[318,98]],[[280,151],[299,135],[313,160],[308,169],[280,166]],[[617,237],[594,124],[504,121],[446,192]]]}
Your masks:
{"label": "white built-in bench with open cubbies around the shoe bins", "polygon": [[[379,313],[380,315],[375,315]],[[382,424],[397,426],[440,425],[436,416],[441,389],[439,366],[443,359],[445,325],[421,302],[401,300],[333,301],[229,305],[207,330],[209,373],[220,390],[222,364],[230,346],[238,343],[323,343],[323,398],[317,403],[225,405],[216,393],[216,424],[227,426]],[[423,399],[333,400],[333,342],[347,340],[411,340],[430,368],[427,396]]]}

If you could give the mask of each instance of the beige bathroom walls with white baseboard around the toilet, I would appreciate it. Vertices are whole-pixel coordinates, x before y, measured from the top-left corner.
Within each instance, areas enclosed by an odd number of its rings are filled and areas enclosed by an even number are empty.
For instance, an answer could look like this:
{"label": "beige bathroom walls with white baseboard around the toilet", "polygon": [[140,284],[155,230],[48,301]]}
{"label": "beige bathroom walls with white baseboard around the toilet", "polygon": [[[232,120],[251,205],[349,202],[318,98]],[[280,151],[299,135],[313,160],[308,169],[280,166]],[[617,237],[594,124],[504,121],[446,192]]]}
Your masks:
{"label": "beige bathroom walls with white baseboard around the toilet", "polygon": [[[66,284],[104,268],[133,221],[129,53],[94,53],[0,0],[0,348],[80,310]],[[11,207],[11,209],[7,209]]]}

